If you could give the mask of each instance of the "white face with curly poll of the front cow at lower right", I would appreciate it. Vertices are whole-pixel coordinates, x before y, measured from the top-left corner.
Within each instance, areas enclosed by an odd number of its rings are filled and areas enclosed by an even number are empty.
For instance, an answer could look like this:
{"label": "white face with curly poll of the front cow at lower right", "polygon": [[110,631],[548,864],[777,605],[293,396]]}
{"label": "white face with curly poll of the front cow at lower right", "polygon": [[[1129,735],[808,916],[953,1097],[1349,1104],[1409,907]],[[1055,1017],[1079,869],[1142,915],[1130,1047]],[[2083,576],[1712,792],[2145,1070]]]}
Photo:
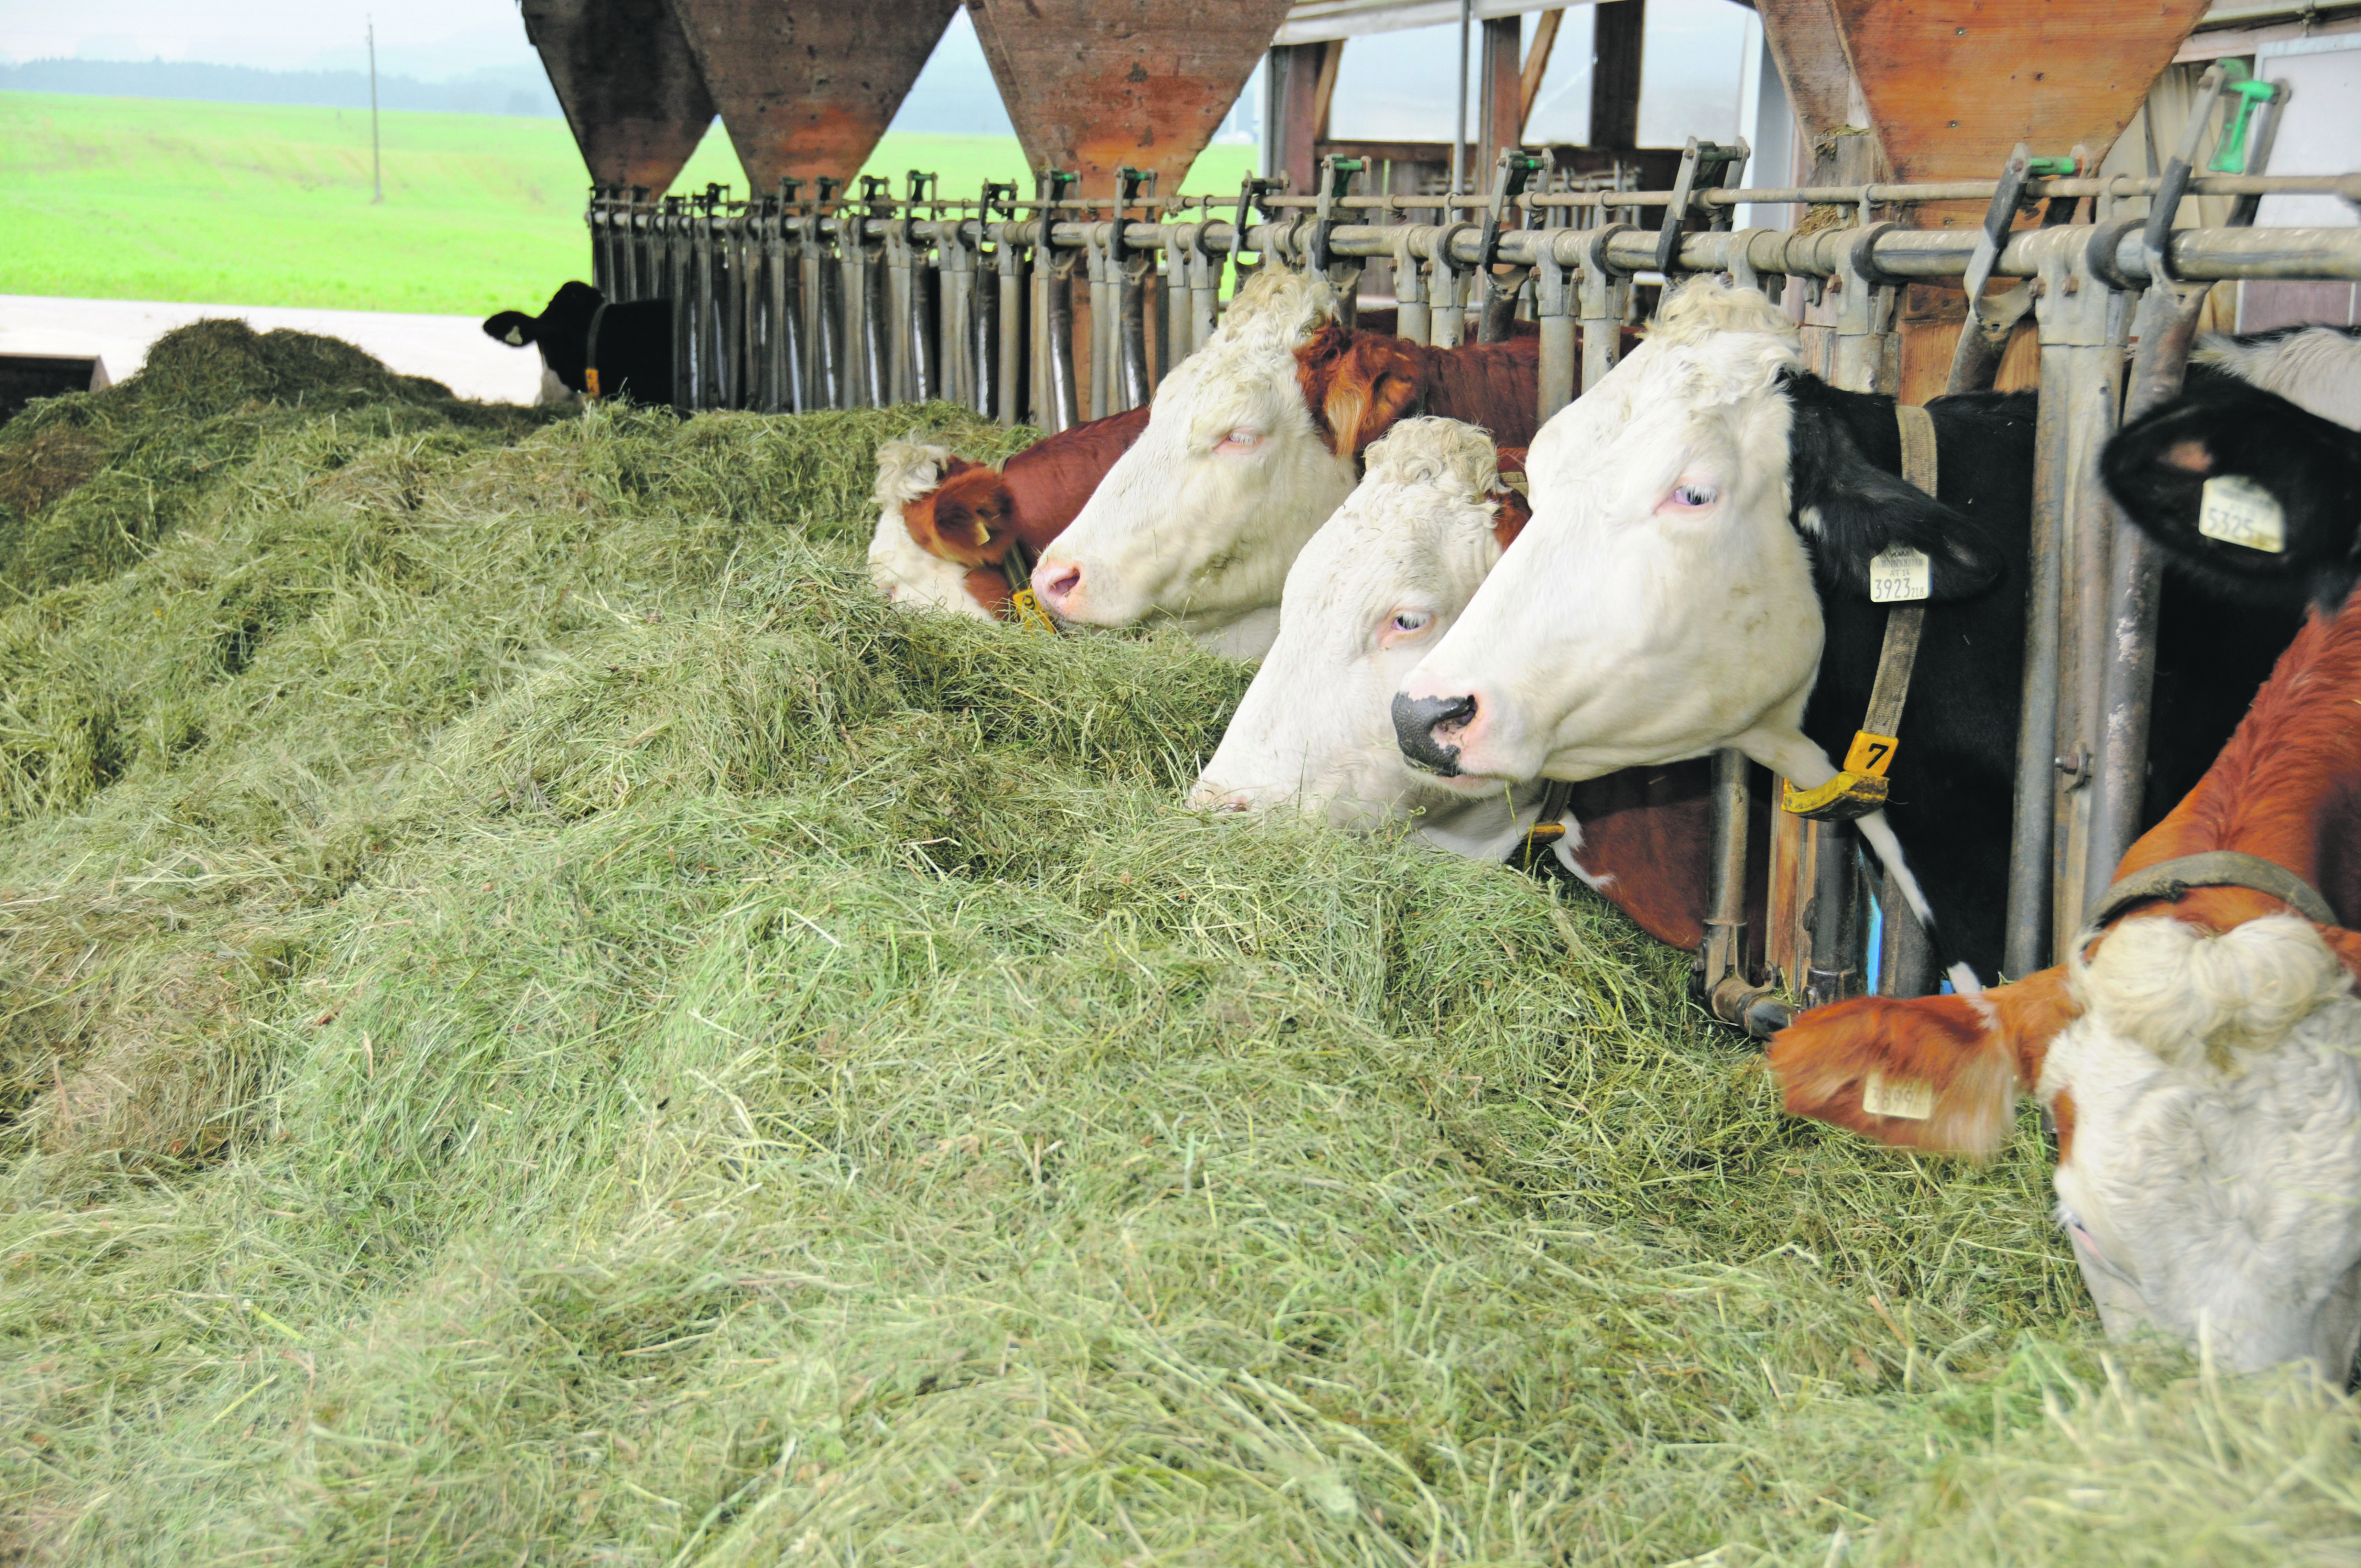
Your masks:
{"label": "white face with curly poll of the front cow at lower right", "polygon": [[2361,1346],[2361,1001],[2319,930],[2115,926],[2052,1044],[2059,1223],[2106,1332],[2255,1370]]}

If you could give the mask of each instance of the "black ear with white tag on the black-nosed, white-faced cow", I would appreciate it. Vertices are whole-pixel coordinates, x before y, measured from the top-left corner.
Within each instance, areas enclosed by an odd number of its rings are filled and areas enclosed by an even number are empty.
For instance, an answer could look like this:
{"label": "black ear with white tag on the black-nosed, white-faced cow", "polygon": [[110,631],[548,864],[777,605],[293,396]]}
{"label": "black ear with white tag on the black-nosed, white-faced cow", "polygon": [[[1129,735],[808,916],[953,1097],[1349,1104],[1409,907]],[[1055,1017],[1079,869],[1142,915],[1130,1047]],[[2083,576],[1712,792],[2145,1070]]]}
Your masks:
{"label": "black ear with white tag on the black-nosed, white-faced cow", "polygon": [[1938,605],[1976,597],[2007,574],[2007,555],[1979,522],[1860,456],[1832,411],[1799,401],[1790,451],[1794,515],[1830,588],[1870,597],[1870,562],[1886,550],[1927,555],[1927,600]]}

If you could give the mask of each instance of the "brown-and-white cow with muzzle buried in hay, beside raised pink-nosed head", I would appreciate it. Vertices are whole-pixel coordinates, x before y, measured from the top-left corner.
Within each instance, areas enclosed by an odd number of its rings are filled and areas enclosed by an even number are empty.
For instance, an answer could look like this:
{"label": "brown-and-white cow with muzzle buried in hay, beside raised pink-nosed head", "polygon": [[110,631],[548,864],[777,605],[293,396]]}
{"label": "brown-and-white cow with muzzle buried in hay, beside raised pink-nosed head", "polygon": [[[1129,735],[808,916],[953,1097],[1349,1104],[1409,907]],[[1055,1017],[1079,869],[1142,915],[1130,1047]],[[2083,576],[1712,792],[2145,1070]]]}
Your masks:
{"label": "brown-and-white cow with muzzle buried in hay, beside raised pink-nosed head", "polygon": [[869,581],[902,605],[996,619],[1008,605],[1011,541],[1039,557],[1145,427],[1147,409],[1091,420],[1001,468],[916,437],[885,442]]}

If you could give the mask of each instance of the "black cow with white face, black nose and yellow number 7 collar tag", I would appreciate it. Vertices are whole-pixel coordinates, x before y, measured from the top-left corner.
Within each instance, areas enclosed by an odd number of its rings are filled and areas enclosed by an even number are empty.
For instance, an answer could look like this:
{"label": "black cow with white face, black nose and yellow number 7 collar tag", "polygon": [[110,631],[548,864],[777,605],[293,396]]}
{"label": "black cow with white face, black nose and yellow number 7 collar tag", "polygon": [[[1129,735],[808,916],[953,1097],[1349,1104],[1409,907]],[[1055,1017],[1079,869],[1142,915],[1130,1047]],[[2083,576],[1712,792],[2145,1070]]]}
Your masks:
{"label": "black cow with white face, black nose and yellow number 7 collar tag", "polygon": [[[1794,326],[1761,293],[1688,283],[1535,442],[1535,522],[1402,682],[1405,756],[1478,779],[1587,779],[1738,746],[1818,786],[1877,673],[1872,560],[1917,550],[1924,635],[1891,798],[1860,831],[1889,867],[1908,862],[1903,893],[1960,961],[1955,982],[1995,975],[2035,397],[1945,397],[1927,416],[1934,496],[1901,479],[1891,397],[1801,371]],[[2293,614],[2226,614],[2203,583],[2167,581],[2146,822],[2205,770],[2293,635]]]}

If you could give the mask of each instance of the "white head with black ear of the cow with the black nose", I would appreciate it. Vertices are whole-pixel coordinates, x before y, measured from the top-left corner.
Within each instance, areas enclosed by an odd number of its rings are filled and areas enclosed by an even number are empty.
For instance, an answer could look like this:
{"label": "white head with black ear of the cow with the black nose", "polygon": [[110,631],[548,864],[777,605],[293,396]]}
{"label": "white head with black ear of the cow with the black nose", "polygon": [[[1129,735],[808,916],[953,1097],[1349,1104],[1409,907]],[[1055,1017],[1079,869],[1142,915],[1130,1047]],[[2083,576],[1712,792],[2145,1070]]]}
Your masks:
{"label": "white head with black ear of the cow with the black nose", "polygon": [[1799,730],[1820,593],[1858,579],[1868,597],[1889,543],[1929,553],[1936,600],[2002,562],[1967,517],[1870,465],[1827,397],[1846,394],[1799,373],[1761,293],[1698,279],[1672,295],[1535,439],[1518,569],[1402,682],[1412,760],[1591,779],[1738,746],[1804,786],[1834,775]]}

